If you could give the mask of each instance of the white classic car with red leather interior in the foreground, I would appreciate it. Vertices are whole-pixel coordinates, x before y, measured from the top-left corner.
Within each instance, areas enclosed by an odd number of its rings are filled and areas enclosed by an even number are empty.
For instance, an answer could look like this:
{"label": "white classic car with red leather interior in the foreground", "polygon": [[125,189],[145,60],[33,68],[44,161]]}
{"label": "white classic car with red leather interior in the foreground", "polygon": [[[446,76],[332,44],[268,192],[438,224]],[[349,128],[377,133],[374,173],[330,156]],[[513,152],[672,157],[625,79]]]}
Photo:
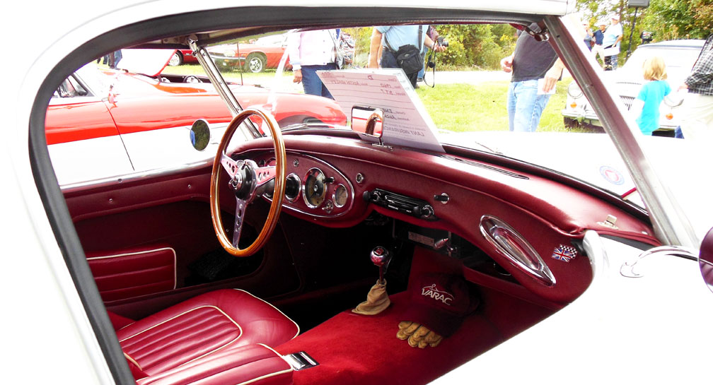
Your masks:
{"label": "white classic car with red leather interior in the foreground", "polygon": [[[698,171],[709,144],[635,135],[580,49],[572,1],[284,4],[14,5],[7,41],[33,43],[0,62],[5,383],[709,383],[713,207]],[[281,131],[267,107],[242,110],[205,51],[375,14],[525,29],[589,85],[608,135],[511,133],[506,106],[482,100],[434,122],[393,69],[320,73],[334,108],[363,120],[354,131],[314,120]],[[62,189],[48,102],[117,47],[197,52],[234,118],[221,137],[195,125],[212,162]],[[202,115],[138,108],[124,128]],[[453,122],[486,131],[441,133]],[[175,156],[176,144],[142,138]],[[112,162],[89,154],[76,155]]]}

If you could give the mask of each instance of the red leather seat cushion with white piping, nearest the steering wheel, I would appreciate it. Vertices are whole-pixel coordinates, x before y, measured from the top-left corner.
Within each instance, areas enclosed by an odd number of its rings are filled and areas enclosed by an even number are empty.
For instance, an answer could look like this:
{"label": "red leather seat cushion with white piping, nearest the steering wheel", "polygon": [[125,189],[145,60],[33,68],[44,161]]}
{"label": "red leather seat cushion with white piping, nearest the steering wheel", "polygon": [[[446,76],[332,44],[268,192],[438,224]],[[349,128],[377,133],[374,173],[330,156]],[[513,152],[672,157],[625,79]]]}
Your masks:
{"label": "red leather seat cushion with white piping, nearest the steering wheel", "polygon": [[116,332],[137,379],[226,347],[277,346],[297,334],[297,324],[275,307],[249,292],[230,289],[191,298]]}

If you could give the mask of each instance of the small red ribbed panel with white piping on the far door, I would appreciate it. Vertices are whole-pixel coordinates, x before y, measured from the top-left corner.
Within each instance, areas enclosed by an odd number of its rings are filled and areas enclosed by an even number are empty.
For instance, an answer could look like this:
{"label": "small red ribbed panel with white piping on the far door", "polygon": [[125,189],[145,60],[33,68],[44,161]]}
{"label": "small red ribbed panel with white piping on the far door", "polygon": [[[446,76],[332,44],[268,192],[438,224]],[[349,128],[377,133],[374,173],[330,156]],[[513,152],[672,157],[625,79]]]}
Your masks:
{"label": "small red ribbed panel with white piping on the far door", "polygon": [[176,254],[173,248],[151,246],[87,255],[89,268],[104,302],[173,290]]}

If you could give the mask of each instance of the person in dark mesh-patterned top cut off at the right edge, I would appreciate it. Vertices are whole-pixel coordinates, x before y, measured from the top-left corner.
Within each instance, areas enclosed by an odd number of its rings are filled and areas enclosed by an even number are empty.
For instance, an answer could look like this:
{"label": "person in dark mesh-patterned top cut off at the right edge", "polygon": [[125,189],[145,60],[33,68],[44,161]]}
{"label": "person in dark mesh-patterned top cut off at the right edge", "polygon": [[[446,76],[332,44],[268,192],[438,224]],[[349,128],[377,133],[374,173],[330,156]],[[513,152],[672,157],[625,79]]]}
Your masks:
{"label": "person in dark mesh-patterned top cut off at the right edge", "polygon": [[681,120],[683,136],[699,143],[713,143],[713,34],[708,36],[681,88],[688,89]]}

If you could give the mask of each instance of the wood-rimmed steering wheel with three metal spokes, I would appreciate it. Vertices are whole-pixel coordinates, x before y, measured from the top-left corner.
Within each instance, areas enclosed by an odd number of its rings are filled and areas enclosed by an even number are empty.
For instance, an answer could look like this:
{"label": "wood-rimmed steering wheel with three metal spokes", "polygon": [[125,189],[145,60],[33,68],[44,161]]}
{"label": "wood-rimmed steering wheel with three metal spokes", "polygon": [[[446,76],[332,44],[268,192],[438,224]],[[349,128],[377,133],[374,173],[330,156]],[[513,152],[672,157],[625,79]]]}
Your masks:
{"label": "wood-rimmed steering wheel with three metal spokes", "polygon": [[[225,154],[228,143],[232,135],[235,134],[237,127],[240,127],[242,122],[250,117],[257,115],[262,118],[265,125],[270,128],[272,135],[272,143],[275,148],[275,166],[258,167],[255,162],[250,159],[233,160],[229,155]],[[213,221],[213,229],[217,235],[220,246],[225,250],[235,255],[236,257],[247,257],[255,254],[262,246],[265,246],[267,239],[272,235],[277,225],[277,218],[282,209],[282,199],[284,198],[285,185],[285,159],[287,155],[284,153],[284,141],[282,134],[279,131],[279,126],[275,118],[267,112],[263,112],[257,108],[248,108],[242,110],[240,114],[232,119],[230,125],[227,126],[225,134],[223,134],[220,144],[218,145],[213,161],[213,169],[210,175],[210,216]],[[235,226],[233,227],[232,241],[225,234],[220,219],[220,169],[225,169],[230,181],[228,186],[235,193],[237,199],[235,208]],[[275,191],[272,193],[272,204],[270,211],[267,213],[265,225],[262,226],[257,239],[247,248],[240,249],[237,246],[240,241],[240,231],[242,229],[243,220],[245,218],[245,208],[250,202],[255,200],[256,191],[265,189],[265,185],[275,179]]]}

